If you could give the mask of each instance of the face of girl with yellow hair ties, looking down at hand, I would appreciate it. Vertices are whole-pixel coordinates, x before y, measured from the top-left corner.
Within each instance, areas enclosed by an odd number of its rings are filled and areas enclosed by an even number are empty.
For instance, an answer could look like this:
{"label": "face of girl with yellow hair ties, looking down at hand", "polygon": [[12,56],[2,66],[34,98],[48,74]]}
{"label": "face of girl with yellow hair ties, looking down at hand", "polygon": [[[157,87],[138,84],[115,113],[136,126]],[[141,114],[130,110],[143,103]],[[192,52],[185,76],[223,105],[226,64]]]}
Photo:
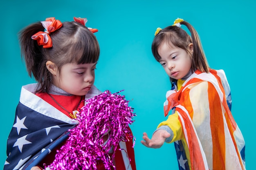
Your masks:
{"label": "face of girl with yellow hair ties, looking down at hand", "polygon": [[[181,79],[189,73],[192,60],[190,55],[184,50],[162,43],[158,48],[161,56],[159,63],[164,67],[166,73],[173,79]],[[193,53],[193,44],[189,44],[189,50]]]}

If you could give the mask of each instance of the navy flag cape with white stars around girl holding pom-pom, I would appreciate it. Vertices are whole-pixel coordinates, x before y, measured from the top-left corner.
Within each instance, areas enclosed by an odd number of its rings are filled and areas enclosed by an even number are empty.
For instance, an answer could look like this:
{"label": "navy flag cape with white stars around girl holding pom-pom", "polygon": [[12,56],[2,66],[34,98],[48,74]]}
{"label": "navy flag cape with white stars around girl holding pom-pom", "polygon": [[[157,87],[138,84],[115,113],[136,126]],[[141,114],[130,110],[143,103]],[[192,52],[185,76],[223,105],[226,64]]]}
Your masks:
{"label": "navy flag cape with white stars around girl holding pom-pom", "polygon": [[[7,140],[7,160],[4,170],[30,170],[54,148],[65,141],[68,130],[76,121],[33,93],[36,84],[22,86],[13,127]],[[85,96],[90,99],[101,94],[95,86]],[[116,153],[117,170],[136,170],[132,141],[120,142]],[[129,160],[131,158],[131,163]]]}

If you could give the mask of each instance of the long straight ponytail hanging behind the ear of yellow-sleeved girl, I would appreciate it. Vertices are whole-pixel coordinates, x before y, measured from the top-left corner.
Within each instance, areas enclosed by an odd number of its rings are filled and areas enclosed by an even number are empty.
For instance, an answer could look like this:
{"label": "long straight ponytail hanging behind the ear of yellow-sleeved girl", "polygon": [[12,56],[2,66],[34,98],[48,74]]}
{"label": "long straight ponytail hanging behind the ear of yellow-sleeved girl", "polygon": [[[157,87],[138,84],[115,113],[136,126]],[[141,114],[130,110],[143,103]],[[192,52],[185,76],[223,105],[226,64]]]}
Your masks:
{"label": "long straight ponytail hanging behind the ear of yellow-sleeved girl", "polygon": [[204,51],[202,49],[202,44],[197,31],[194,29],[194,27],[191,24],[189,24],[186,21],[182,21],[180,22],[180,24],[185,25],[191,33],[191,38],[193,43],[192,70],[195,71],[198,69],[200,71],[209,73],[209,66],[208,66]]}

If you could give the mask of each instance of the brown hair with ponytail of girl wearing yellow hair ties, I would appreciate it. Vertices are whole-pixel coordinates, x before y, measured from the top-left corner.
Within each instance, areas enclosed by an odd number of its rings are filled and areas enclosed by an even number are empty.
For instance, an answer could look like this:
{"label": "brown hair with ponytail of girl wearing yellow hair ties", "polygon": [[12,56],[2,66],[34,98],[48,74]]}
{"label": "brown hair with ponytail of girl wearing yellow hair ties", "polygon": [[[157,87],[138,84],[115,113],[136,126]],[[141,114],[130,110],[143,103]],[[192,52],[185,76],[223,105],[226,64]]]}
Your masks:
{"label": "brown hair with ponytail of girl wearing yellow hair ties", "polygon": [[[202,72],[209,72],[209,66],[207,64],[207,60],[202,49],[202,44],[200,42],[200,38],[198,36],[197,31],[195,31],[194,27],[186,21],[180,22],[180,24],[185,25],[190,33],[189,36],[184,29],[178,26],[167,26],[166,28],[159,31],[159,33],[155,36],[151,49],[152,53],[159,62],[161,56],[158,53],[158,48],[162,43],[167,43],[168,45],[174,45],[180,49],[184,49],[192,59],[191,71],[200,70]],[[189,51],[189,44],[193,43],[193,54]],[[173,79],[171,78],[171,81]]]}

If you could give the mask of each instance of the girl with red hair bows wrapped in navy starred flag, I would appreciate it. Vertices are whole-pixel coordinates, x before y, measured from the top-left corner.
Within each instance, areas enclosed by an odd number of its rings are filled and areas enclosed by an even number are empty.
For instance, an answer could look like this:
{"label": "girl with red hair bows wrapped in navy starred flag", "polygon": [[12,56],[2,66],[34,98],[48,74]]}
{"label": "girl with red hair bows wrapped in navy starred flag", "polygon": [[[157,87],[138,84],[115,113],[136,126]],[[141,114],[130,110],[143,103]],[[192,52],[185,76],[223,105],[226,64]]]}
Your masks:
{"label": "girl with red hair bows wrapped in navy starred flag", "polygon": [[[38,83],[22,86],[4,170],[37,170],[51,164],[70,129],[77,126],[74,118],[79,109],[102,93],[94,86],[100,52],[93,34],[97,29],[86,27],[85,18],[74,19],[61,23],[47,18],[20,32],[28,74]],[[120,149],[109,152],[115,155],[112,162],[117,170],[136,170],[132,137],[127,138]],[[107,141],[108,133],[102,139]],[[98,170],[105,170],[101,159],[95,163]]]}

